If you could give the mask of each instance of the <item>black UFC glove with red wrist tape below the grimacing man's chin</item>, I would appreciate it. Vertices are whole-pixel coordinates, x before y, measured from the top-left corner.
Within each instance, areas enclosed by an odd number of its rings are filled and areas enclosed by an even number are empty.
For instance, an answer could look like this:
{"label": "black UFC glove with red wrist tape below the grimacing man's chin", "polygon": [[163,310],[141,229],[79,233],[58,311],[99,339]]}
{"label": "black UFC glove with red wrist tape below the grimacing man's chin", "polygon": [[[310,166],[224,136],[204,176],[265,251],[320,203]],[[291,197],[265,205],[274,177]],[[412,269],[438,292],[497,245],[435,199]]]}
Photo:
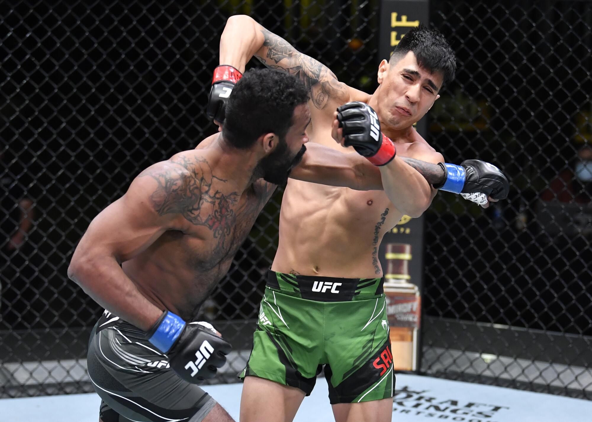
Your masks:
{"label": "black UFC glove with red wrist tape below the grimacing man's chin", "polygon": [[374,165],[385,165],[397,154],[395,144],[380,131],[376,112],[366,103],[352,101],[337,108],[345,146],[352,146]]}

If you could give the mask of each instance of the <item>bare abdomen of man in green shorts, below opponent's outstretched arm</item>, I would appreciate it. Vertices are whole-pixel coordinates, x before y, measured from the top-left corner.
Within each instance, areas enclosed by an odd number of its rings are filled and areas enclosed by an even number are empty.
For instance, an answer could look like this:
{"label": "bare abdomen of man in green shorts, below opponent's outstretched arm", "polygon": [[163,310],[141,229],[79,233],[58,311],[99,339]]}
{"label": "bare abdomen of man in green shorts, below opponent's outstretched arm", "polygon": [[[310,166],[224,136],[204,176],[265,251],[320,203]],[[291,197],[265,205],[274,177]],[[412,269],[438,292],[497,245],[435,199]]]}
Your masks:
{"label": "bare abdomen of man in green shorts, below opponent's outstretched arm", "polygon": [[384,191],[291,179],[282,199],[272,270],[321,277],[382,277],[378,247],[401,216]]}

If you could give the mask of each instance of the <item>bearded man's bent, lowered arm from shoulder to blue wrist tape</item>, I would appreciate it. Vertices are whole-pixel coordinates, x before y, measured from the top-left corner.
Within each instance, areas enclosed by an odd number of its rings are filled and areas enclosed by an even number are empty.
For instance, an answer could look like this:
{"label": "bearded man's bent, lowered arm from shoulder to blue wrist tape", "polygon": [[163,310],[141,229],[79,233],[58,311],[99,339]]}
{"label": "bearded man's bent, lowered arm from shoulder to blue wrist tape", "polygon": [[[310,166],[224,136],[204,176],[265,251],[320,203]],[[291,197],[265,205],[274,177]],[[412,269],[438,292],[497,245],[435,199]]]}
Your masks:
{"label": "bearded man's bent, lowered arm from shoulder to blue wrist tape", "polygon": [[[165,162],[150,169],[166,166],[179,167]],[[154,178],[137,177],[123,197],[92,220],[68,268],[68,277],[98,304],[142,330],[152,327],[163,310],[140,293],[121,269],[121,262],[172,228],[176,215],[159,213],[153,206],[151,196],[157,188]]]}

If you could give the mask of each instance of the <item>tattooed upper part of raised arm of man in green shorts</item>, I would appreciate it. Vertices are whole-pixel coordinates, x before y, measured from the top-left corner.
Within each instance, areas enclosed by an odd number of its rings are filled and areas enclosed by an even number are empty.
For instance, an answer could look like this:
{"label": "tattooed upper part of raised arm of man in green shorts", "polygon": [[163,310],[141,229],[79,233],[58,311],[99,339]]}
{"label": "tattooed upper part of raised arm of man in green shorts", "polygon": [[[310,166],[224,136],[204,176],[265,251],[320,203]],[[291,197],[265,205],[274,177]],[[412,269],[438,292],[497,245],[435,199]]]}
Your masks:
{"label": "tattooed upper part of raised arm of man in green shorts", "polygon": [[[255,56],[265,66],[272,69],[281,69],[294,74],[302,80],[308,91],[310,99],[317,109],[323,109],[330,98],[347,98],[348,90],[345,83],[337,80],[333,72],[327,66],[314,60],[306,54],[300,53],[292,47],[284,38],[278,37],[268,30],[261,30],[265,41],[263,47],[267,48],[265,58]],[[282,61],[283,60],[283,61]],[[278,64],[281,65],[278,66]]]}

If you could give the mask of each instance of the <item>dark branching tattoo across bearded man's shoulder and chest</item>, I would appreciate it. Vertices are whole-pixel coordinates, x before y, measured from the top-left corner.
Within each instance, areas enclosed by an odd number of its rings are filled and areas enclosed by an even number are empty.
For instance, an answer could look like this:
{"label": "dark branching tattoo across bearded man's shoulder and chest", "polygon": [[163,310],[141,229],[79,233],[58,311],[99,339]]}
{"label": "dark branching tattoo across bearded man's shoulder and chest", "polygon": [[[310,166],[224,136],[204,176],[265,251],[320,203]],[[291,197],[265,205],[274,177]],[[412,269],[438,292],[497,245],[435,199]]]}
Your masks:
{"label": "dark branching tattoo across bearded man's shoulder and chest", "polygon": [[170,162],[172,165],[140,174],[158,183],[150,196],[152,206],[158,215],[180,214],[192,225],[207,227],[214,238],[220,238],[220,247],[224,247],[226,236],[236,222],[233,205],[240,195],[213,189],[214,179],[226,180],[215,177],[204,158],[175,157]]}

